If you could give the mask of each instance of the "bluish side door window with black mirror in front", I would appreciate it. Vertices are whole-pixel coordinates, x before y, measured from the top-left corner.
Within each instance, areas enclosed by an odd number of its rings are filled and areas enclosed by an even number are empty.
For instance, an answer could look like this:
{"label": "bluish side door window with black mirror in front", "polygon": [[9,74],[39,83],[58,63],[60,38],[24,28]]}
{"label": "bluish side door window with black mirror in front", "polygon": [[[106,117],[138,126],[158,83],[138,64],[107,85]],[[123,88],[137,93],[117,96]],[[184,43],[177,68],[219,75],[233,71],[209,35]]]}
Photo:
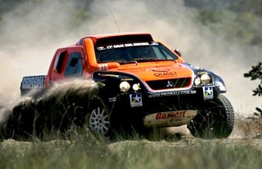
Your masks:
{"label": "bluish side door window with black mirror in front", "polygon": [[83,65],[80,53],[71,53],[67,59],[67,66],[64,71],[64,76],[81,75],[83,71]]}

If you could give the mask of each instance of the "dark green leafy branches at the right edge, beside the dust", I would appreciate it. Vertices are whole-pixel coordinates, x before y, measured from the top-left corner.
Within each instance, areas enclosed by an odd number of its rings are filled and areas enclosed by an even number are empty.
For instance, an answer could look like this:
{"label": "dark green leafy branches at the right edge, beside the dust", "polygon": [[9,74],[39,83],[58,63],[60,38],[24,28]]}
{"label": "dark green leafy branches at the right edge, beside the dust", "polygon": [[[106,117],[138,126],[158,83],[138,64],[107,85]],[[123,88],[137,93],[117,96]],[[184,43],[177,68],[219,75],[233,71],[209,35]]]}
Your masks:
{"label": "dark green leafy branches at the right edge, beside the dust", "polygon": [[[253,65],[249,73],[244,73],[244,77],[251,77],[251,80],[261,81],[260,84],[258,84],[258,87],[253,90],[253,96],[262,96],[262,62],[258,62],[256,65]],[[256,111],[258,111],[258,113],[255,113],[255,115],[262,118],[262,109],[257,107]]]}

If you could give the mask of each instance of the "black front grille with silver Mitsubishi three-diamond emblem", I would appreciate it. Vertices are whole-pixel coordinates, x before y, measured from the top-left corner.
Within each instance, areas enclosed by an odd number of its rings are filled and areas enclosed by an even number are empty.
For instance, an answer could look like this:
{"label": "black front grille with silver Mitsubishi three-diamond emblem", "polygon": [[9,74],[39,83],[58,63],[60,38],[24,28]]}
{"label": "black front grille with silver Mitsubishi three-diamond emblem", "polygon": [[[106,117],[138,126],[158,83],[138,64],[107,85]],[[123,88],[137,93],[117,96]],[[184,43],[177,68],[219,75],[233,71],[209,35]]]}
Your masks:
{"label": "black front grille with silver Mitsubishi three-diamond emblem", "polygon": [[147,85],[154,90],[188,87],[189,84],[190,84],[190,77],[171,79],[171,80],[147,81]]}

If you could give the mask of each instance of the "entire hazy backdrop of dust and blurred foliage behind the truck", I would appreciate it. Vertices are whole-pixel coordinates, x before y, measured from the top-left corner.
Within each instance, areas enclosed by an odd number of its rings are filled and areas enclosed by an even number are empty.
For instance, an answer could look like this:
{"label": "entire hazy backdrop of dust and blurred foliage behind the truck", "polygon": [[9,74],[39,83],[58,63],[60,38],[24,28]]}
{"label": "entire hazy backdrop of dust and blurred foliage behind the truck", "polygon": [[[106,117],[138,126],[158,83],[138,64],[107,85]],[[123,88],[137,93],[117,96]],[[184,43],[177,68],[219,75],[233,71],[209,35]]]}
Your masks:
{"label": "entire hazy backdrop of dust and blurred foliage behind the truck", "polygon": [[55,50],[81,37],[151,32],[227,85],[239,115],[253,115],[259,82],[244,78],[262,61],[262,0],[0,0],[0,104],[20,95],[25,75],[45,75]]}

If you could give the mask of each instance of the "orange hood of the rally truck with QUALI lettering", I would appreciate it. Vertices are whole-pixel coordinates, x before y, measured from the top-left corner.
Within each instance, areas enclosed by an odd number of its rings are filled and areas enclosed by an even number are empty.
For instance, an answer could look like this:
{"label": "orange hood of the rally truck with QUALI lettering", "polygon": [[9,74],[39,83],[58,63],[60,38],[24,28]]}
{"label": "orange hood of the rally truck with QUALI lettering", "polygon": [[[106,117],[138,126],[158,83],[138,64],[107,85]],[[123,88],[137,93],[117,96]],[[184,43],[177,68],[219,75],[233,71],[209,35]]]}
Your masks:
{"label": "orange hood of the rally truck with QUALI lettering", "polygon": [[116,70],[135,75],[143,81],[192,77],[194,74],[188,65],[176,62],[157,62],[150,65],[148,63],[139,63],[132,66],[121,65]]}

